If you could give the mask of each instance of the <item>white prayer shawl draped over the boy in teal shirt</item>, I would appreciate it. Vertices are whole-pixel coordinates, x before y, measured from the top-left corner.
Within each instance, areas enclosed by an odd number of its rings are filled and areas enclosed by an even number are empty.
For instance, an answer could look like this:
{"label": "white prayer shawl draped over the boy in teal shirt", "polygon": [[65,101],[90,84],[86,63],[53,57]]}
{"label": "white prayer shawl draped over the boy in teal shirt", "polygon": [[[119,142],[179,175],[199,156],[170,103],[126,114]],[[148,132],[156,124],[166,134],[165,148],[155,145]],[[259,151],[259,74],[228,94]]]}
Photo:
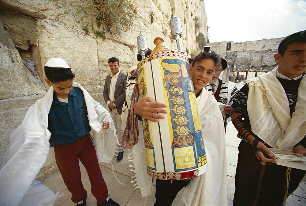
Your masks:
{"label": "white prayer shawl draped over the boy in teal shirt", "polygon": [[[98,161],[109,163],[118,140],[111,118],[110,128],[102,130],[101,123],[110,114],[82,86],[76,82],[73,86],[84,93]],[[0,170],[0,205],[53,205],[58,197],[58,193],[54,194],[35,180],[50,149],[51,133],[47,128],[53,91],[51,86],[47,94],[28,109],[24,120],[10,136],[10,145]],[[54,162],[54,159],[49,162]]]}

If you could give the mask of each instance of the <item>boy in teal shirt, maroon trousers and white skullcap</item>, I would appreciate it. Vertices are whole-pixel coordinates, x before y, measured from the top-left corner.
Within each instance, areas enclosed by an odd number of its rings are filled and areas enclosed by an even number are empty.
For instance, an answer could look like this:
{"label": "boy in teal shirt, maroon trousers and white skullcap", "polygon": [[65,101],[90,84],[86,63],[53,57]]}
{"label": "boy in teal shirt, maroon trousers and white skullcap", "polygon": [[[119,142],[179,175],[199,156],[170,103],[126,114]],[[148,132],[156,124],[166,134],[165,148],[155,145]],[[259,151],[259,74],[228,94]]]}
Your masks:
{"label": "boy in teal shirt, maroon trousers and white skullcap", "polygon": [[[50,147],[54,147],[56,164],[65,185],[72,193],[71,200],[76,205],[86,205],[87,192],[81,181],[80,159],[86,168],[91,192],[97,199],[98,206],[119,205],[108,195],[95,146],[89,133],[92,129],[90,124],[92,119],[89,115],[91,111],[88,108],[90,102],[94,102],[95,110],[97,107],[100,110],[104,108],[95,102],[83,87],[73,82],[75,74],[63,59],[49,59],[44,70],[47,77],[45,81],[54,90],[48,113],[48,130],[51,132]],[[93,112],[96,112],[95,110]],[[112,120],[106,109],[104,110],[102,111],[104,116],[102,128],[108,129]],[[97,115],[99,119],[99,113]]]}

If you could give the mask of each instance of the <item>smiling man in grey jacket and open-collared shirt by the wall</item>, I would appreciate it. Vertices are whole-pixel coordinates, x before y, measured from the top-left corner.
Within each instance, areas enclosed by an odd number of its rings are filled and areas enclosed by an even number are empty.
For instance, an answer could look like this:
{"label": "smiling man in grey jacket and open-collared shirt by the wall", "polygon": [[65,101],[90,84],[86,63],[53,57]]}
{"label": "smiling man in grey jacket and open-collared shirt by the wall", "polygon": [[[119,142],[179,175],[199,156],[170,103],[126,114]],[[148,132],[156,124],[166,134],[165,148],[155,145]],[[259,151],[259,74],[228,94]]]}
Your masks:
{"label": "smiling man in grey jacket and open-collared shirt by the wall", "polygon": [[108,65],[110,66],[110,71],[112,73],[106,76],[103,97],[110,109],[110,115],[113,118],[117,130],[117,138],[119,141],[119,145],[117,145],[117,160],[119,161],[123,158],[123,147],[120,145],[120,138],[123,133],[123,131],[120,129],[122,123],[120,115],[122,113],[122,106],[125,100],[126,74],[123,74],[119,70],[120,62],[116,57],[109,58]]}

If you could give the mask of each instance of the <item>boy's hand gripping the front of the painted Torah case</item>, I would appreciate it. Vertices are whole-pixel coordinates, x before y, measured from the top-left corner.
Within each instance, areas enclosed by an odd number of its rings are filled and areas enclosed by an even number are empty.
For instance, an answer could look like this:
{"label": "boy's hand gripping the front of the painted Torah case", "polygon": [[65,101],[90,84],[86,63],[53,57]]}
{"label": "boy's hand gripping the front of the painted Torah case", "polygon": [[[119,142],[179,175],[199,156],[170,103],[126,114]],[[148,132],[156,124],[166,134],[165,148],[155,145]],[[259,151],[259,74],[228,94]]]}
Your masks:
{"label": "boy's hand gripping the front of the painted Torah case", "polygon": [[156,102],[151,97],[144,97],[140,101],[135,102],[134,112],[145,119],[151,120],[152,122],[159,122],[159,119],[164,119],[164,116],[156,113],[166,114],[167,110],[158,107],[167,107],[167,105]]}

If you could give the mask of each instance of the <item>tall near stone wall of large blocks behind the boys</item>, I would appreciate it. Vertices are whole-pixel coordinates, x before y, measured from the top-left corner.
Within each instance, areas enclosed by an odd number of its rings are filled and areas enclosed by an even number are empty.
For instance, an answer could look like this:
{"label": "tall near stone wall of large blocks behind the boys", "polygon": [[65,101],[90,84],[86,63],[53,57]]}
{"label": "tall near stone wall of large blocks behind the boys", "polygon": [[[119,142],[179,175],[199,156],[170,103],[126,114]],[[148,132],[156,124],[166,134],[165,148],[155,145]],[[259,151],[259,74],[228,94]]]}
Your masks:
{"label": "tall near stone wall of large blocks behind the boys", "polygon": [[[153,49],[153,40],[160,36],[163,45],[177,50],[171,38],[169,21],[173,15],[181,18],[182,48],[190,56],[198,50],[196,37],[202,33],[207,38],[207,16],[203,0],[138,0],[141,15],[148,26],[142,30],[147,36],[148,47]],[[76,74],[75,82],[106,107],[102,92],[106,75],[110,74],[108,58],[118,57],[120,69],[127,73],[136,64],[137,36],[140,30],[114,36],[103,25],[89,25],[89,35],[83,21],[92,16],[75,14],[59,15],[64,8],[57,1],[45,0],[0,0],[0,162],[8,147],[9,135],[22,121],[24,114],[49,86],[43,66],[50,58],[65,59]],[[153,21],[151,21],[153,20]],[[149,23],[148,23],[149,22]],[[144,23],[141,23],[144,25]],[[96,37],[94,30],[106,32],[106,39]],[[23,61],[32,60],[37,77],[24,66]],[[40,79],[44,85],[39,84]],[[33,96],[34,95],[34,96]]]}

